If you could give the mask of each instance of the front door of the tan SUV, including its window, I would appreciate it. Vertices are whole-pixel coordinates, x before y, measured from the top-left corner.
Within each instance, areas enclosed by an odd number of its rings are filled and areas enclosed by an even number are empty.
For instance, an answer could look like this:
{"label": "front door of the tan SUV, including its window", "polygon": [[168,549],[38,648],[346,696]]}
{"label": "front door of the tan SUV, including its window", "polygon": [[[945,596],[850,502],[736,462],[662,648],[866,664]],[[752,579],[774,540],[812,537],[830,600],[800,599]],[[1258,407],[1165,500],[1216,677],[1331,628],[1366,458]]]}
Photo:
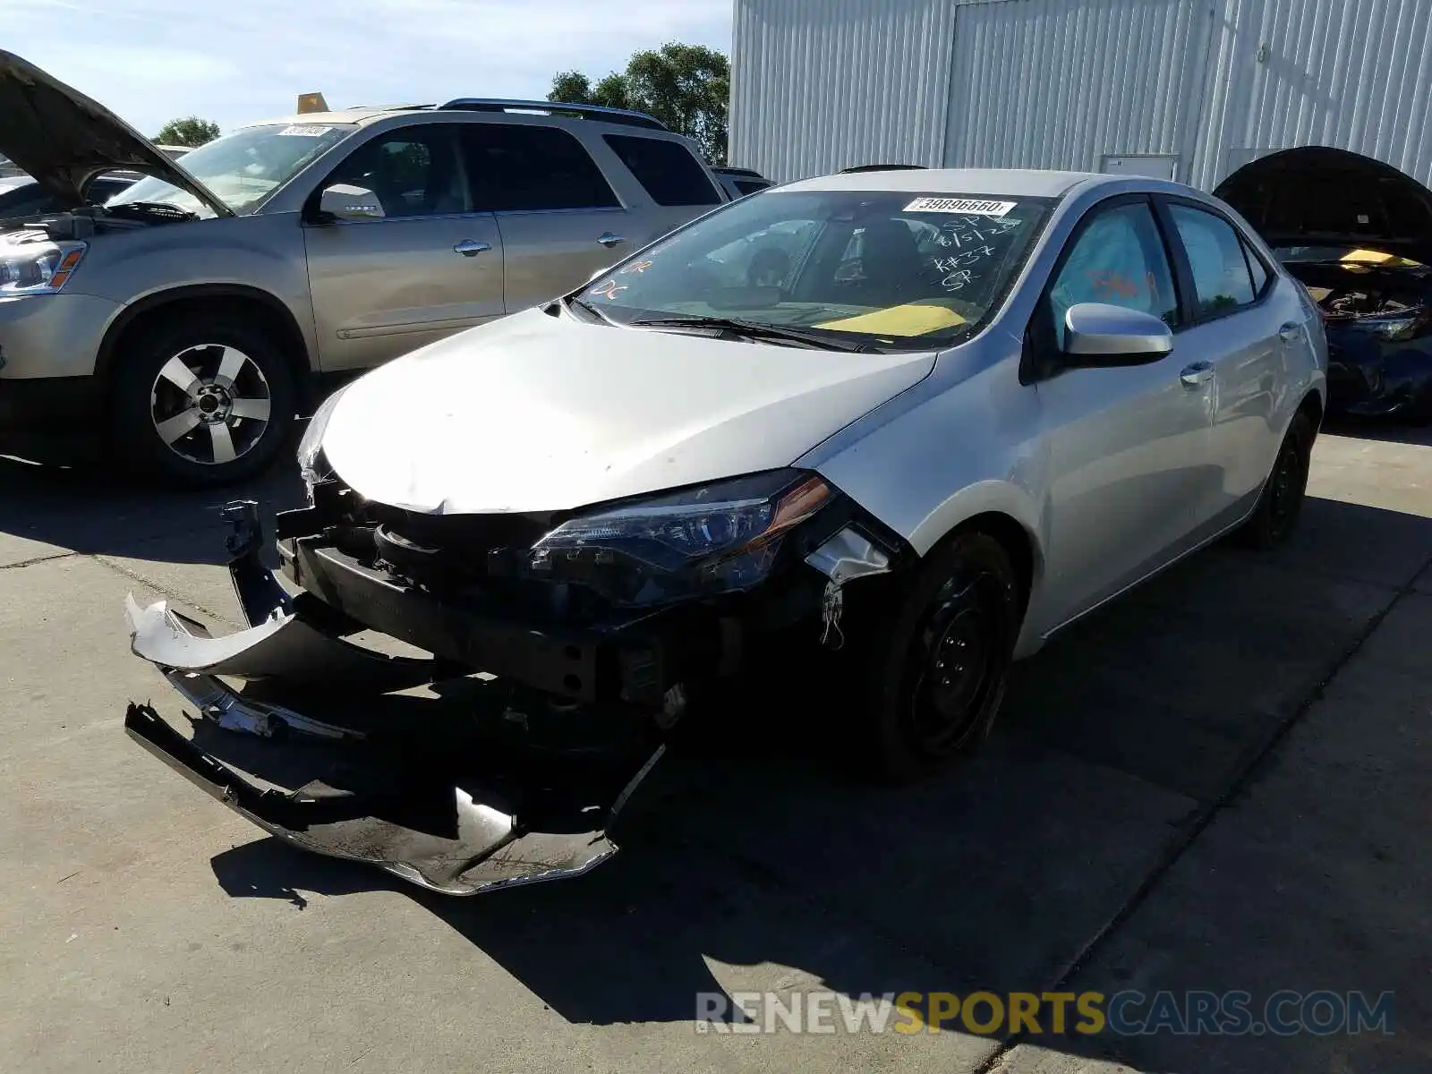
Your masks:
{"label": "front door of the tan SUV, including its window", "polygon": [[384,219],[304,225],[319,361],[375,365],[503,315],[503,239],[475,212],[453,123],[382,132],[321,185],[372,190]]}

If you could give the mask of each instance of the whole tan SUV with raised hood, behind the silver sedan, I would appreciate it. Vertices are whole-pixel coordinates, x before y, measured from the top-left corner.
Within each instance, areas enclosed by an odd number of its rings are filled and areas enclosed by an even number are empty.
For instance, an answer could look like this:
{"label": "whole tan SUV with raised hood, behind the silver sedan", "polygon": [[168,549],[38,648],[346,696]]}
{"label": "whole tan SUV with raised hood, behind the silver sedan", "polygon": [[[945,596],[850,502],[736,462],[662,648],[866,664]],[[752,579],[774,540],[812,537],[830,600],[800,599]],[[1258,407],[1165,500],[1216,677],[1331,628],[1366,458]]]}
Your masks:
{"label": "whole tan SUV with raised hood, behind the silver sedan", "polygon": [[[0,223],[0,451],[102,432],[190,484],[263,467],[319,377],[571,291],[727,200],[656,119],[544,102],[306,113],[180,168],[4,52],[0,153],[70,206]],[[147,178],[87,205],[115,169]]]}

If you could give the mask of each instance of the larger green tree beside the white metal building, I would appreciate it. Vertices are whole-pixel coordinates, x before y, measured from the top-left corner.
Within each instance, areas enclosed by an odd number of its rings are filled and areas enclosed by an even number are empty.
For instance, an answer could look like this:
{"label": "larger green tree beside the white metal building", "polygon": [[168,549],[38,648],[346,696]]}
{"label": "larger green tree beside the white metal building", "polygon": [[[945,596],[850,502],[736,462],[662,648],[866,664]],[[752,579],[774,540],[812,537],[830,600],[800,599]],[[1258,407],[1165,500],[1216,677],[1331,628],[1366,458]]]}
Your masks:
{"label": "larger green tree beside the white metal building", "polygon": [[693,139],[712,163],[726,163],[730,62],[703,44],[669,42],[633,53],[624,72],[596,84],[581,72],[563,72],[547,100],[647,112]]}

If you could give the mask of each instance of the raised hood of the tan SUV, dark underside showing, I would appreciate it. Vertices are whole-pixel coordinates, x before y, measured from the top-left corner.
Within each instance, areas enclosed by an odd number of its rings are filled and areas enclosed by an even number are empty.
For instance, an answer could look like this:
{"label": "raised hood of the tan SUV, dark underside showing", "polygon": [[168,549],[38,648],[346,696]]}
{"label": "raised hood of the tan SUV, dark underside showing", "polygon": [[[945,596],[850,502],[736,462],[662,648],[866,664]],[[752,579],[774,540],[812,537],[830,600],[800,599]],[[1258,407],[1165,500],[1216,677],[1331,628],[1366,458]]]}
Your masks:
{"label": "raised hood of the tan SUV, dark underside showing", "polygon": [[0,155],[66,206],[83,205],[100,172],[133,170],[189,190],[221,216],[233,212],[143,135],[99,102],[29,60],[0,50]]}

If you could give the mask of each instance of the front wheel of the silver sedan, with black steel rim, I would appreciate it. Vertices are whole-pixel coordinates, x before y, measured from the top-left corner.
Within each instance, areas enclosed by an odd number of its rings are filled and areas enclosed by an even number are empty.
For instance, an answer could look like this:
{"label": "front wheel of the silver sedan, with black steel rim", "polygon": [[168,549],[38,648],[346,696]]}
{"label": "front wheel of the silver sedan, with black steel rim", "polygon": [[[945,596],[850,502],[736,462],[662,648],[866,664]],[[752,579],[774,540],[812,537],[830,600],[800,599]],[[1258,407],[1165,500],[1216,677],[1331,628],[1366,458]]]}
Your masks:
{"label": "front wheel of the silver sedan, with black steel rim", "polygon": [[[858,763],[882,782],[945,769],[994,726],[1010,679],[1024,594],[1004,547],[959,533],[932,553],[869,633]],[[941,676],[937,679],[935,676]]]}

